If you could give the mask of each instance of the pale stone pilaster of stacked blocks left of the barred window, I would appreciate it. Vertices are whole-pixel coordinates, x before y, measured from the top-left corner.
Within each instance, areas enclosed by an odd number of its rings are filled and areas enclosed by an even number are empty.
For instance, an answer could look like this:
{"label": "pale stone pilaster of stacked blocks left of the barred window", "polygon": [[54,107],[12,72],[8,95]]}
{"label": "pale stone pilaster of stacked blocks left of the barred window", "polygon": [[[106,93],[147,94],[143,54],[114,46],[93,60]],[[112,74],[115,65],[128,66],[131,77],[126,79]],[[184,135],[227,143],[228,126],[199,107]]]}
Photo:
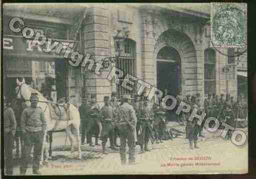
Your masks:
{"label": "pale stone pilaster of stacked blocks left of the barred window", "polygon": [[[84,21],[84,53],[93,54],[91,59],[95,62],[110,56],[108,18],[108,9],[97,5],[88,9],[88,17]],[[103,102],[105,95],[111,95],[111,83],[105,78],[109,71],[110,68],[103,69],[100,75],[87,72],[87,92],[96,93],[97,102]]]}

